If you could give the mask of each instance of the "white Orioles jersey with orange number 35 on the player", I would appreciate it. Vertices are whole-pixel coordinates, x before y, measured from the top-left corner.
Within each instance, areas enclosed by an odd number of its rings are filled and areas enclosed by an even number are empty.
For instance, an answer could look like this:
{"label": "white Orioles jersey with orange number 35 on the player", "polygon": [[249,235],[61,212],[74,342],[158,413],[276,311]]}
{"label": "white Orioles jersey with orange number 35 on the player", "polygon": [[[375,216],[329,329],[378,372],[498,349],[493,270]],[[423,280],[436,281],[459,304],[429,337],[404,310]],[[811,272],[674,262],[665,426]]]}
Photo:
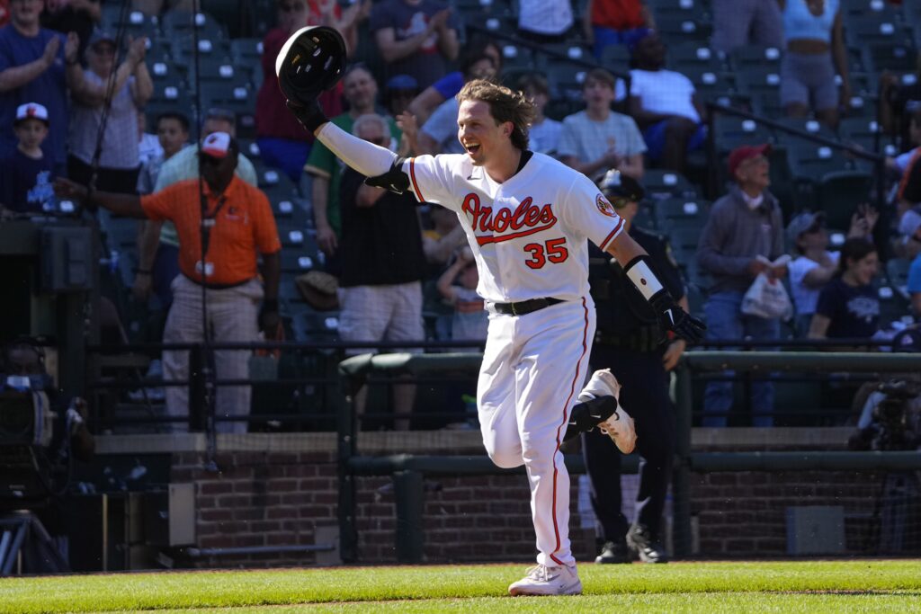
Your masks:
{"label": "white Orioles jersey with orange number 35 on the player", "polygon": [[588,238],[606,249],[624,228],[585,175],[543,154],[497,183],[466,154],[418,156],[403,165],[419,201],[458,214],[487,301],[577,300],[589,294]]}

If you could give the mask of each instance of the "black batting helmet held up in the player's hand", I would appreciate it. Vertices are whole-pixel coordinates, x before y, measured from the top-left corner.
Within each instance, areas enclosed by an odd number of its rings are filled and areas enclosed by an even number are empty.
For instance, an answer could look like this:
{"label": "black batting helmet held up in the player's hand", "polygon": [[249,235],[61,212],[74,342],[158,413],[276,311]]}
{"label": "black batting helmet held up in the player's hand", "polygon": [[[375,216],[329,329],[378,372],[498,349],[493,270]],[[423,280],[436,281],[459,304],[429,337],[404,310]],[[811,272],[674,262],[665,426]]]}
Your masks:
{"label": "black batting helmet held up in the player's hand", "polygon": [[336,85],[345,72],[345,41],[328,26],[297,30],[275,58],[278,87],[292,102],[305,104]]}

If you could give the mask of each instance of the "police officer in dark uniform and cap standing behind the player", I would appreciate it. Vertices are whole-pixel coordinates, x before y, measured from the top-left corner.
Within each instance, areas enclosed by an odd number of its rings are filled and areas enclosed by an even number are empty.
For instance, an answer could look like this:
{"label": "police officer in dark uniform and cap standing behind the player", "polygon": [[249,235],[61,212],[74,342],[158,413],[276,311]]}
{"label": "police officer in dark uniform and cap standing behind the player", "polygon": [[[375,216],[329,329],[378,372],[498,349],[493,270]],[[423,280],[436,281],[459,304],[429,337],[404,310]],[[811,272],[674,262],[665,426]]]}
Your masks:
{"label": "police officer in dark uniform and cap standing behind the player", "polygon": [[[687,310],[681,274],[665,238],[632,224],[643,200],[643,188],[612,170],[600,181],[600,189],[624,218],[630,236],[649,252],[653,272]],[[604,532],[595,562],[629,562],[630,550],[643,562],[666,562],[659,539],[675,446],[668,372],[678,363],[684,342],[668,339],[659,318],[617,261],[594,245],[589,248],[589,283],[598,313],[591,368],[610,367],[623,386],[620,404],[635,421],[636,451],[641,457],[636,518],[629,526],[621,511],[621,453],[598,429],[582,434],[591,505]]]}

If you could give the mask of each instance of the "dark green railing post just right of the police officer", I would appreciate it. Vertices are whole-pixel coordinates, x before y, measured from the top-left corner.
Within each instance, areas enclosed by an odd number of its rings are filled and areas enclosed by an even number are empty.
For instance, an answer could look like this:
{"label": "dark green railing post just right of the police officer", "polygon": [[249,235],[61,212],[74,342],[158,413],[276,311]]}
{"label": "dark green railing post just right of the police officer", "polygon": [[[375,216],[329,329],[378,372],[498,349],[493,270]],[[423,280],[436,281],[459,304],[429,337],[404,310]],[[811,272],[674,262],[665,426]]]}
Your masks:
{"label": "dark green railing post just right of the police officer", "polygon": [[675,468],[671,480],[671,540],[676,559],[691,556],[691,369],[682,359],[675,369]]}

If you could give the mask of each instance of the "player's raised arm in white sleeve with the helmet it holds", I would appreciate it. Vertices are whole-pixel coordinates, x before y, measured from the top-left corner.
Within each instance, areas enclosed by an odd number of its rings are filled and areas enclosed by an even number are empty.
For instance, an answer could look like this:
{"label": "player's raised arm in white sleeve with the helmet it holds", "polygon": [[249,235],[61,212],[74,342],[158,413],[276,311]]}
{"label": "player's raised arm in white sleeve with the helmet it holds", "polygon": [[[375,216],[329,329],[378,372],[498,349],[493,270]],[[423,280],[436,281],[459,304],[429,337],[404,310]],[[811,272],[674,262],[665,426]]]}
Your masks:
{"label": "player's raised arm in white sleeve with the helmet it holds", "polygon": [[278,85],[297,121],[345,164],[374,178],[368,183],[402,193],[409,187],[409,178],[402,172],[402,158],[346,133],[329,121],[317,102],[323,91],[339,81],[344,68],[342,36],[324,26],[297,30],[275,60]]}

